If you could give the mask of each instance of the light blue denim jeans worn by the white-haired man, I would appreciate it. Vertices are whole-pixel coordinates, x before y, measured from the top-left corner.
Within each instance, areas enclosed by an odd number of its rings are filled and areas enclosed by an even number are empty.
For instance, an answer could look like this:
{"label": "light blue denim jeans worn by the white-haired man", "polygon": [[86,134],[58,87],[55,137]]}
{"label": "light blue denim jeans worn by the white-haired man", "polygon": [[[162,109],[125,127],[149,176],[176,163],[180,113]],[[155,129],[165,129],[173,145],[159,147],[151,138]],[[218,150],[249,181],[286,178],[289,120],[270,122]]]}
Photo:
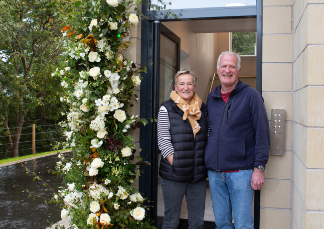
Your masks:
{"label": "light blue denim jeans worn by the white-haired man", "polygon": [[208,170],[210,196],[216,229],[253,229],[251,188],[253,169],[234,173]]}

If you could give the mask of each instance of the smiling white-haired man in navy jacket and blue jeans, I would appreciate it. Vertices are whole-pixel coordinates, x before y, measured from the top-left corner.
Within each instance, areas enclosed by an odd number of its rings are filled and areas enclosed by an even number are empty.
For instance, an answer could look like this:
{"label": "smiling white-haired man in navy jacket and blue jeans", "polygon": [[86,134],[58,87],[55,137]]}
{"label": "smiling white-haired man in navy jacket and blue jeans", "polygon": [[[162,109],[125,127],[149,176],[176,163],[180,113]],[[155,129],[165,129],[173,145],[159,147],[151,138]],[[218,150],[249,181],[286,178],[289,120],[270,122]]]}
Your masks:
{"label": "smiling white-haired man in navy jacket and blue jeans", "polygon": [[208,95],[210,125],[205,163],[216,229],[253,229],[254,190],[264,184],[270,131],[262,96],[238,79],[240,55],[222,52],[221,84]]}

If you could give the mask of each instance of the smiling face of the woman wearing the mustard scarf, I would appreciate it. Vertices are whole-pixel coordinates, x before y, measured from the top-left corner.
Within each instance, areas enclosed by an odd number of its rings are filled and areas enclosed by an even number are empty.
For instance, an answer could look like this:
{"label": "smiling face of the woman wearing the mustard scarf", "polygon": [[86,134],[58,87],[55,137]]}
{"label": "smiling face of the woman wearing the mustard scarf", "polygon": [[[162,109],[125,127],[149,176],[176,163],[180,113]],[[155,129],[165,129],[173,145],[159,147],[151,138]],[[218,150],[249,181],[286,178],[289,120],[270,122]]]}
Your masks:
{"label": "smiling face of the woman wearing the mustard scarf", "polygon": [[193,76],[189,74],[183,74],[178,76],[174,88],[178,95],[189,104],[191,97],[196,91]]}

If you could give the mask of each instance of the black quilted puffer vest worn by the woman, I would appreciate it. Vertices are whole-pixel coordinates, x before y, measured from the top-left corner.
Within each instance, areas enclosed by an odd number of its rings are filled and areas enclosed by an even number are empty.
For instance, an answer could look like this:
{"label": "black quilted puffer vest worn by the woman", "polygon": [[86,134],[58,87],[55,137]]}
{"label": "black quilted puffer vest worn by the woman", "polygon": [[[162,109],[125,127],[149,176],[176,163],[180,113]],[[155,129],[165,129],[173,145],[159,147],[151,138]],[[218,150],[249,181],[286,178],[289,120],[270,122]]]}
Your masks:
{"label": "black quilted puffer vest worn by the woman", "polygon": [[159,174],[162,178],[178,182],[197,182],[207,177],[204,148],[207,143],[208,121],[206,107],[201,106],[200,130],[193,136],[188,119],[182,120],[183,112],[172,100],[162,106],[170,121],[171,142],[174,147],[172,166],[166,158],[161,159]]}

